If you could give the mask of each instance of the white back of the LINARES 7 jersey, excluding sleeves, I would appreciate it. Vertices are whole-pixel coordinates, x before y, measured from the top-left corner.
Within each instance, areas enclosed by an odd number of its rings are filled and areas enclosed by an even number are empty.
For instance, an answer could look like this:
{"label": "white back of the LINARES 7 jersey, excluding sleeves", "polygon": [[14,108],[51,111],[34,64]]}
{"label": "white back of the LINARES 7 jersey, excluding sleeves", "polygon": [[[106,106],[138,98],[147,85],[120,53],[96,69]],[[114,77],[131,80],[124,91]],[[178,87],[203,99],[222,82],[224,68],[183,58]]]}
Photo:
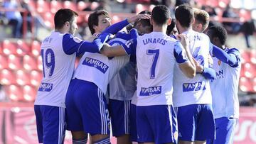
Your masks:
{"label": "white back of the LINARES 7 jersey, excluding sleeves", "polygon": [[176,44],[161,32],[137,38],[137,106],[172,104]]}

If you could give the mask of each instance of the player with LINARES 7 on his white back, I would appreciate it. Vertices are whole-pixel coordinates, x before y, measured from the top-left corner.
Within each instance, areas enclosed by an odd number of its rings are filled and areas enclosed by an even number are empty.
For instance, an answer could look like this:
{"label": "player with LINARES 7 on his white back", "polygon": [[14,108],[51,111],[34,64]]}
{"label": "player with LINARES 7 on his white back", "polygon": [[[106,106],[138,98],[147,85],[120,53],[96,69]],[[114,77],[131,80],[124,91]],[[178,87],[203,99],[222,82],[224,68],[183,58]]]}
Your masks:
{"label": "player with LINARES 7 on his white back", "polygon": [[[156,6],[151,12],[153,32],[129,40],[124,47],[112,48],[116,55],[136,54],[137,83],[137,133],[140,143],[176,143],[176,114],[172,106],[174,65],[194,77],[196,67],[188,50],[186,39],[179,35],[181,43],[166,35],[171,24],[166,6]],[[105,50],[106,47],[102,50]]]}

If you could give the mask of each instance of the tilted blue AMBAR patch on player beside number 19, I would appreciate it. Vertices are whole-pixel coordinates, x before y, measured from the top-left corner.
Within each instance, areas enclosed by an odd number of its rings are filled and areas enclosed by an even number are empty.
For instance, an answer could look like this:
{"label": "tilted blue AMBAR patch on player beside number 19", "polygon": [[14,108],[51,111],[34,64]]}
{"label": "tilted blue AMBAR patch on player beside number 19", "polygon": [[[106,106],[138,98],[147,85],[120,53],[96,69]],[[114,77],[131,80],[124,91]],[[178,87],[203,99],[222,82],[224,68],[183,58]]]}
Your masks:
{"label": "tilted blue AMBAR patch on player beside number 19", "polygon": [[105,63],[101,62],[100,60],[96,60],[90,57],[85,57],[84,62],[82,62],[82,65],[87,65],[89,67],[95,67],[97,70],[100,70],[100,72],[104,73],[107,72],[108,66],[105,65]]}

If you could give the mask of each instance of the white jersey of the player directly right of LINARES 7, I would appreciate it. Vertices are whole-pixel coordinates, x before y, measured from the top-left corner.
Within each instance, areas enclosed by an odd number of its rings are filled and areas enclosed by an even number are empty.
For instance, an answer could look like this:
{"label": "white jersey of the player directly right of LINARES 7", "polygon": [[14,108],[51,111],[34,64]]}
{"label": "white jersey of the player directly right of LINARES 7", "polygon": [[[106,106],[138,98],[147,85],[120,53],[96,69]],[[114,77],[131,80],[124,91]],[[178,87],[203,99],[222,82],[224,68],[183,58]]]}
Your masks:
{"label": "white jersey of the player directly right of LINARES 7", "polygon": [[[208,67],[210,40],[207,35],[196,31],[186,31],[189,50],[199,64]],[[174,106],[190,104],[212,104],[209,80],[202,74],[190,79],[176,65],[174,69]]]}

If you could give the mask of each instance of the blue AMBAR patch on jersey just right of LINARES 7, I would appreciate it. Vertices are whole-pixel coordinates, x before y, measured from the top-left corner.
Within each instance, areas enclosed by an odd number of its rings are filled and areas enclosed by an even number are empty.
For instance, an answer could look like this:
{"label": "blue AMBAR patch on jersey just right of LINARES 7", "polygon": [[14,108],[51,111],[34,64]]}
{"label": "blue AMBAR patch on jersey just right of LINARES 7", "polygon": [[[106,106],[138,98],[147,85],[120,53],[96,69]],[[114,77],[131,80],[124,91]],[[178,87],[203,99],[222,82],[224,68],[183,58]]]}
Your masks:
{"label": "blue AMBAR patch on jersey just right of LINARES 7", "polygon": [[206,84],[204,82],[183,84],[183,92],[199,91],[199,90],[205,90],[205,89],[206,89]]}

